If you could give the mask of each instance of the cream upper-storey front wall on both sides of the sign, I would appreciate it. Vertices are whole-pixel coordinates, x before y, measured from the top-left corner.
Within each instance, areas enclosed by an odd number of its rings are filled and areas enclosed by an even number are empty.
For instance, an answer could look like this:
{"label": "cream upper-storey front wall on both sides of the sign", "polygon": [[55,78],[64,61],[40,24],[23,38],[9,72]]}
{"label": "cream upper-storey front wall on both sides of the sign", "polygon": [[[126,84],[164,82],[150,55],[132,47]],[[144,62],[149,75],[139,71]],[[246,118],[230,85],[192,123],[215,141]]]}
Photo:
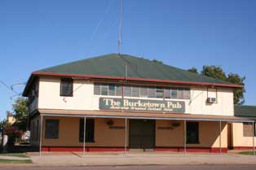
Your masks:
{"label": "cream upper-storey front wall on both sides of the sign", "polygon": [[[74,80],[73,97],[60,96],[60,78],[40,77],[38,108],[67,109],[67,110],[99,110],[99,95],[94,95],[93,82]],[[191,100],[179,100],[186,103],[188,114],[233,116],[233,90],[218,88],[218,102],[206,102],[207,89],[205,87],[191,87]],[[104,96],[111,97],[111,96]],[[113,98],[118,98],[113,96]],[[157,100],[156,98],[149,98]],[[159,99],[161,100],[161,99]],[[172,99],[174,100],[174,99]],[[178,100],[177,100],[178,101]]]}

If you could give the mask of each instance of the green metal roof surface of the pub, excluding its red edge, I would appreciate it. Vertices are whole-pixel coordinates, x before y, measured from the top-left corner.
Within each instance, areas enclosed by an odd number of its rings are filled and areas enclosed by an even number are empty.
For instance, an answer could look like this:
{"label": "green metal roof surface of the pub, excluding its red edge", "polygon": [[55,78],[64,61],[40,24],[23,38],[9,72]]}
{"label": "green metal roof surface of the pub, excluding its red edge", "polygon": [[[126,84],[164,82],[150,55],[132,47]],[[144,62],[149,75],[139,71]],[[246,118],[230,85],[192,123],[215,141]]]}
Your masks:
{"label": "green metal roof surface of the pub, excluding its red edge", "polygon": [[[126,66],[128,68],[127,76]],[[180,68],[174,68],[163,63],[127,54],[106,54],[95,58],[82,59],[72,63],[45,68],[38,72],[94,76],[126,76],[130,78],[232,85],[227,81],[201,76]]]}

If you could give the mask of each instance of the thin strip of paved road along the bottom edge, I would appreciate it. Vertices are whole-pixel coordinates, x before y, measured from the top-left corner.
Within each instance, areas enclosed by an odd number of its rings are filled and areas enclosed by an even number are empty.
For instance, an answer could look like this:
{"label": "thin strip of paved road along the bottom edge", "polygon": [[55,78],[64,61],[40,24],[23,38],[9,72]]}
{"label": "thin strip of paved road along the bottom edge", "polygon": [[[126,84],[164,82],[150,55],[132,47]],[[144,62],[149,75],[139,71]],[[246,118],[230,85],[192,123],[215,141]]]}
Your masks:
{"label": "thin strip of paved road along the bottom edge", "polygon": [[1,167],[1,170],[256,170],[255,165],[180,165],[180,166],[95,166],[95,167]]}

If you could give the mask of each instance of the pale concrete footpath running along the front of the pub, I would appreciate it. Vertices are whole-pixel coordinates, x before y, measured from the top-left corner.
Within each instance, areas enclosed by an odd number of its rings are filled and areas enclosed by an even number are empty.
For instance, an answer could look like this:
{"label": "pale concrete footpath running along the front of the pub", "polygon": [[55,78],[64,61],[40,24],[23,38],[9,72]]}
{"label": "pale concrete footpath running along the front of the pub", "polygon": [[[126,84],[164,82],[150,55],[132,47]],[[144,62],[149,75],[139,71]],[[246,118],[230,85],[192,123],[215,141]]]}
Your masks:
{"label": "pale concrete footpath running along the front of the pub", "polygon": [[29,155],[37,166],[102,166],[102,165],[189,165],[189,164],[255,164],[256,156],[238,154],[55,154]]}

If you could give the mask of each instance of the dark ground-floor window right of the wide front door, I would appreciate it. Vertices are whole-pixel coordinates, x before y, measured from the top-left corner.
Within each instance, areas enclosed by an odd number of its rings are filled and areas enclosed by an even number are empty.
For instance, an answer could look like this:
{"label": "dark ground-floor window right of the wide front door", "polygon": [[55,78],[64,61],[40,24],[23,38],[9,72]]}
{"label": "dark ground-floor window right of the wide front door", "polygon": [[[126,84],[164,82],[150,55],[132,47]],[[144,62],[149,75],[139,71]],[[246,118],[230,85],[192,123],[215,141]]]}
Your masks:
{"label": "dark ground-floor window right of the wide front door", "polygon": [[187,143],[199,143],[198,122],[187,122]]}

